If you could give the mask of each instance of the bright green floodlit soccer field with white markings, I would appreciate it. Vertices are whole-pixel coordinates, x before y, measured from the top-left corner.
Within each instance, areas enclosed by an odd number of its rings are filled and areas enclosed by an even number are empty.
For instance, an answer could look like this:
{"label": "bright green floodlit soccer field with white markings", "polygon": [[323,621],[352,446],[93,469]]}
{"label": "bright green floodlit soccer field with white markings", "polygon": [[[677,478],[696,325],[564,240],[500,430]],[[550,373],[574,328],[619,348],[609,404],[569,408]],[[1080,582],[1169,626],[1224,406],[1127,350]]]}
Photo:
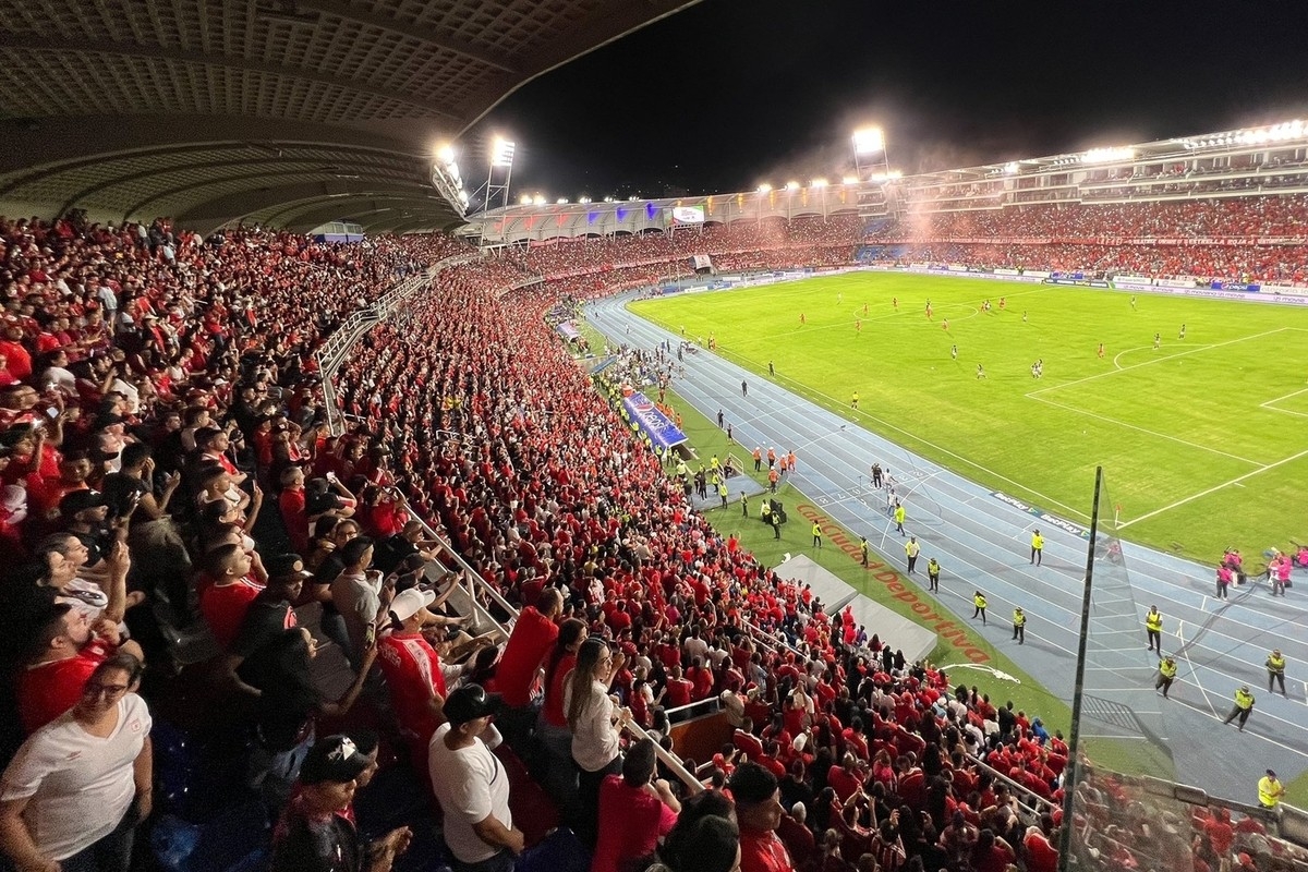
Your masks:
{"label": "bright green floodlit soccer field with white markings", "polygon": [[770,361],[797,394],[1074,520],[1103,465],[1135,541],[1205,562],[1235,545],[1260,563],[1308,539],[1299,307],[1135,294],[1133,309],[1126,292],[855,273],[630,309],[763,377]]}

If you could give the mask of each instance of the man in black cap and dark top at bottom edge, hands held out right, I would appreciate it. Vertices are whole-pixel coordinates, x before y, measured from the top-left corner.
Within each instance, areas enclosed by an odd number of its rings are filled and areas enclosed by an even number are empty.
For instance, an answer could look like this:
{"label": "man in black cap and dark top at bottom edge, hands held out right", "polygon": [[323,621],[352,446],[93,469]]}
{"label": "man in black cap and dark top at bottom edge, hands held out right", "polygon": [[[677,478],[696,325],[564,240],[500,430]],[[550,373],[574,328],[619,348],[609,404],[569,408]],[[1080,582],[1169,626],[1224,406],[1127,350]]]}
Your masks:
{"label": "man in black cap and dark top at bottom edge, hands held out right", "polygon": [[273,830],[273,872],[388,872],[408,850],[409,828],[369,843],[345,816],[369,763],[349,736],[327,736],[309,749],[300,767],[300,790]]}

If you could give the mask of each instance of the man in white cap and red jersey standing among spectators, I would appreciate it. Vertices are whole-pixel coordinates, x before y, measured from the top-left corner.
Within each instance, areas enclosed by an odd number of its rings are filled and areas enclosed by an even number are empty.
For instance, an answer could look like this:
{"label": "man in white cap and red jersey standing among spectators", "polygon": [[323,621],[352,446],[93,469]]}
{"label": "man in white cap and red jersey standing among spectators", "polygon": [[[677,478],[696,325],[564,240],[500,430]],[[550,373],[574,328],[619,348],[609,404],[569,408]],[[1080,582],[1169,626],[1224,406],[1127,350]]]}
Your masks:
{"label": "man in white cap and red jersey standing among spectators", "polygon": [[[377,643],[377,663],[391,690],[395,719],[419,771],[426,771],[432,733],[445,723],[441,658],[422,637],[422,626],[436,622],[436,616],[426,609],[433,601],[436,594],[416,587],[396,594],[387,612],[391,633]],[[385,618],[381,621],[385,628]]]}

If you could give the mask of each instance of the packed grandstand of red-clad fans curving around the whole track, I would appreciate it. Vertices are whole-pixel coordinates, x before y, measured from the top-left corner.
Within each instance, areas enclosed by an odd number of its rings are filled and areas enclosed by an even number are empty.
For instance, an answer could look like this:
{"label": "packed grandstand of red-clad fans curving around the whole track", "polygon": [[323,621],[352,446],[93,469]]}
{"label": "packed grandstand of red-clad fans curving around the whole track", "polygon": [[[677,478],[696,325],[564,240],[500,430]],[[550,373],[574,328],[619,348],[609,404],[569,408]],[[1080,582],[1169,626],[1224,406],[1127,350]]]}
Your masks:
{"label": "packed grandstand of red-clad fans curving around the whole track", "polygon": [[[531,803],[518,818],[527,842],[557,821],[579,835],[536,868],[578,868],[578,858],[586,868],[596,818],[612,813],[522,714],[535,696],[560,716],[589,635],[612,652],[612,671],[595,675],[632,713],[624,741],[651,735],[675,754],[666,710],[685,703],[730,720],[719,754],[684,767],[661,760],[670,804],[704,805],[687,770],[710,794],[736,787],[742,801],[749,786],[735,775],[747,763],[776,779],[783,848],[744,868],[1052,871],[1062,736],[1040,713],[1005,711],[849,631],[804,586],[729,546],[545,316],[689,273],[692,254],[731,272],[871,260],[1308,281],[1299,193],[769,217],[472,259],[446,235],[334,244],[234,227],[201,238],[165,218],[4,220],[0,237],[0,548],[10,567],[0,638],[16,676],[7,746],[85,705],[82,684],[112,652],[141,654],[158,787],[140,854],[175,869],[269,855],[280,868],[326,868],[269,846],[289,838],[284,808],[301,800],[305,753],[331,733],[379,748],[381,774],[358,782],[361,831],[385,841],[412,830],[407,851],[369,868],[447,860],[432,835],[439,812],[422,744],[439,711],[415,713],[400,686],[408,673],[386,660],[398,645],[387,624],[381,641],[369,629],[391,597],[430,583],[442,624],[429,630],[433,685],[505,693],[521,711],[504,713],[496,753],[517,803]],[[339,369],[319,371],[315,352],[349,315],[429,271]],[[332,416],[324,375],[340,404]],[[358,617],[366,597],[349,583],[382,575]],[[290,629],[297,621],[314,642]],[[341,667],[348,689],[310,680],[318,647],[352,664]],[[1303,863],[1252,811],[1164,816],[1143,788],[1110,777],[1080,790],[1075,826],[1097,868]],[[680,833],[668,841],[680,850],[659,859],[678,872],[710,868],[685,847],[700,835]],[[13,845],[7,834],[10,856]]]}

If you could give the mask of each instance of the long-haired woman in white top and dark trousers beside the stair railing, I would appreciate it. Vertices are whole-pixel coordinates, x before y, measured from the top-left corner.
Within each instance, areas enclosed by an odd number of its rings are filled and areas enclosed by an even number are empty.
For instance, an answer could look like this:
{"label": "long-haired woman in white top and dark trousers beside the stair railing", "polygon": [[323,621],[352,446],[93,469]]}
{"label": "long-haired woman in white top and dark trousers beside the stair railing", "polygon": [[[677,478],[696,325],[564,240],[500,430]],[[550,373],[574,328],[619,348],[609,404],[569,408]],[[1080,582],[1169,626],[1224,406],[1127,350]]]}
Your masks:
{"label": "long-haired woman in white top and dark trousers beside the stair railing", "polygon": [[608,689],[624,656],[610,652],[603,639],[591,637],[577,651],[577,665],[564,689],[564,711],[572,729],[572,752],[579,771],[579,820],[577,835],[594,848],[599,818],[599,786],[606,775],[623,770],[619,739],[630,722],[629,709],[620,709]]}

